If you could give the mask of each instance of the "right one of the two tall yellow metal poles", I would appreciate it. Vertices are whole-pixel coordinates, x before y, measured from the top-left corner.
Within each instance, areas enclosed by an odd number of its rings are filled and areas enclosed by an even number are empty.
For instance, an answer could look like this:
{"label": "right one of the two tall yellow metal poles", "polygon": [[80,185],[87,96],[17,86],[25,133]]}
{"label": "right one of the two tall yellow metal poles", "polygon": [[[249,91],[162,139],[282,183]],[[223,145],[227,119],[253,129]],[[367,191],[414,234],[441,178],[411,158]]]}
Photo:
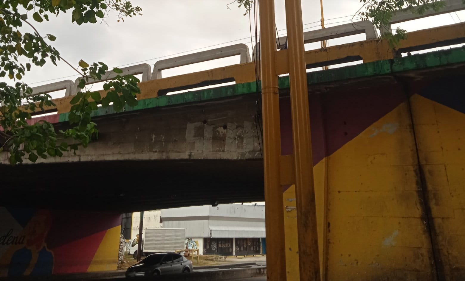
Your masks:
{"label": "right one of the two tall yellow metal poles", "polygon": [[319,252],[315,190],[313,186],[312,140],[302,7],[300,0],[286,0],[287,48],[291,88],[292,137],[296,173],[297,233],[300,280],[319,281]]}

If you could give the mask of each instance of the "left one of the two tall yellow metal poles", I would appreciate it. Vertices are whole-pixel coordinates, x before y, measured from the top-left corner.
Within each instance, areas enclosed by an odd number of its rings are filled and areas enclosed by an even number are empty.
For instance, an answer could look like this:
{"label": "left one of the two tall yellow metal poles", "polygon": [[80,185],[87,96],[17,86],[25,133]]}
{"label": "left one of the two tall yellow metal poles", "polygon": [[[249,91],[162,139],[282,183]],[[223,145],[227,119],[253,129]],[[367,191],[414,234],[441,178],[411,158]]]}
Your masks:
{"label": "left one of the two tall yellow metal poles", "polygon": [[[259,0],[263,107],[263,164],[265,177],[266,274],[268,281],[286,280],[283,191],[279,181],[281,132],[276,75],[274,0]],[[259,56],[260,58],[260,56]]]}

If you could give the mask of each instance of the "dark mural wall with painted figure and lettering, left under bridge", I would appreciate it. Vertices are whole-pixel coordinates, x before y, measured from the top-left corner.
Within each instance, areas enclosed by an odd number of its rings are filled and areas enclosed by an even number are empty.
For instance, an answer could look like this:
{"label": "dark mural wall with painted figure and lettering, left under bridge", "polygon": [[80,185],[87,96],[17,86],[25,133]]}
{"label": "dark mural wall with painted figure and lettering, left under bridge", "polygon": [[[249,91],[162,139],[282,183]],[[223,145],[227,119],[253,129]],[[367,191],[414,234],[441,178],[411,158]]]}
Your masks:
{"label": "dark mural wall with painted figure and lettering, left under bridge", "polygon": [[121,215],[0,207],[0,277],[116,270]]}

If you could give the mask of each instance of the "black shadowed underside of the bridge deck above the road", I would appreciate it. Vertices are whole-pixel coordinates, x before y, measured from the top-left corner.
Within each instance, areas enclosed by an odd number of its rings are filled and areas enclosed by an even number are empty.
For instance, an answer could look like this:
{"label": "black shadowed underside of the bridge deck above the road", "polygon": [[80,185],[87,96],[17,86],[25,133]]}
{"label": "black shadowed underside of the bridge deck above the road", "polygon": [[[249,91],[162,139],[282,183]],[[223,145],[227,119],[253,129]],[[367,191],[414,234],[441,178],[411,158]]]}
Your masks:
{"label": "black shadowed underside of the bridge deck above the road", "polygon": [[[264,200],[261,160],[76,162],[2,171],[9,176],[0,206],[129,212]],[[29,180],[20,180],[25,174]]]}

